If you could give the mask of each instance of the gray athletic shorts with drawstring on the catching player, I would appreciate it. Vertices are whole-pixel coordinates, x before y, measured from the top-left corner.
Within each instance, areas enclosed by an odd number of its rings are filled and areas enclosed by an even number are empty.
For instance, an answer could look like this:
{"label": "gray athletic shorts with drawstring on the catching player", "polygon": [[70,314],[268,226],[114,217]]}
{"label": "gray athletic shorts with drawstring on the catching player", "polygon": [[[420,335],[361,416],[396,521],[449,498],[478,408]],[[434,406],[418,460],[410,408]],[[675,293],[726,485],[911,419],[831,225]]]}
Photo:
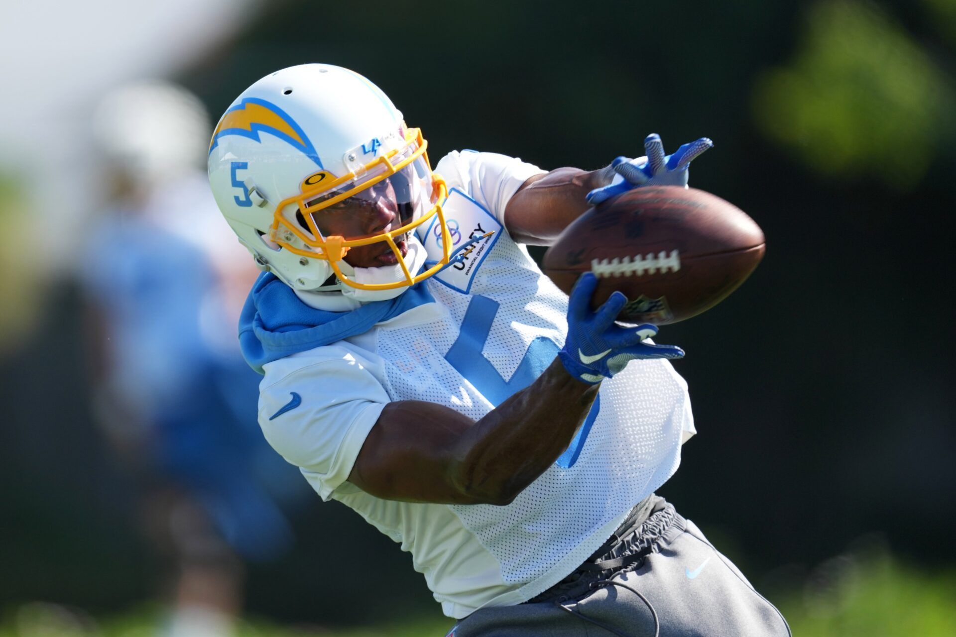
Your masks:
{"label": "gray athletic shorts with drawstring on the catching player", "polygon": [[521,605],[476,610],[453,637],[789,636],[780,612],[697,525],[657,499],[636,529]]}

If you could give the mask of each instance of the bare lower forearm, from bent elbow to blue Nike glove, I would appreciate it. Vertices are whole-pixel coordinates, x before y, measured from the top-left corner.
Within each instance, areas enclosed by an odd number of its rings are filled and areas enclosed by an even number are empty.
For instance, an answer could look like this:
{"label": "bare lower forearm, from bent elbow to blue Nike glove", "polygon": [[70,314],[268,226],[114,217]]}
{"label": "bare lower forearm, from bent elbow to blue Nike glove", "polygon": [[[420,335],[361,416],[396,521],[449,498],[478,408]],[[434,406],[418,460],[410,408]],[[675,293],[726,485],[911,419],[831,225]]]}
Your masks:
{"label": "bare lower forearm, from bent elbow to blue Nike glove", "polygon": [[529,387],[461,435],[449,467],[452,481],[469,499],[511,502],[571,444],[597,388],[554,359]]}

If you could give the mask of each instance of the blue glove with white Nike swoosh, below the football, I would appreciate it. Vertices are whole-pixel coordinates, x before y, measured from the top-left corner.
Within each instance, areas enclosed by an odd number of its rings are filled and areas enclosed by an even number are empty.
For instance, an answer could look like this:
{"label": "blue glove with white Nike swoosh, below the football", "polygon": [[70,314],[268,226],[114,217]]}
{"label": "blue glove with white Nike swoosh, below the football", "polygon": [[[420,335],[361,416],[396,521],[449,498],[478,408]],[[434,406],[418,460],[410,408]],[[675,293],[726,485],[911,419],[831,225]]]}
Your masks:
{"label": "blue glove with white Nike swoosh, below the football", "polygon": [[625,328],[615,323],[627,297],[615,292],[592,312],[591,296],[597,276],[585,272],[568,300],[568,338],[557,352],[564,369],[578,380],[599,383],[624,369],[635,358],[681,358],[684,350],[673,345],[653,345],[644,339],[657,333],[652,325]]}

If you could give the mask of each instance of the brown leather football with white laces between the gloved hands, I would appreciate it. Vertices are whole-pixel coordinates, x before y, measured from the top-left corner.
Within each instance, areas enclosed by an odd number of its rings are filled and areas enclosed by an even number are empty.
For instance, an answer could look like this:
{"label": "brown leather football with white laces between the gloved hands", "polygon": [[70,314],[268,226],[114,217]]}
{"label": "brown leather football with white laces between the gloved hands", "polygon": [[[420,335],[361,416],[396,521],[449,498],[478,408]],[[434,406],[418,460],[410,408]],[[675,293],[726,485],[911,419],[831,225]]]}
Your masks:
{"label": "brown leather football with white laces between the gloved hands", "polygon": [[694,188],[645,186],[578,217],[542,266],[565,292],[594,272],[594,308],[619,290],[627,297],[619,320],[666,325],[726,299],[764,250],[760,226],[732,203]]}

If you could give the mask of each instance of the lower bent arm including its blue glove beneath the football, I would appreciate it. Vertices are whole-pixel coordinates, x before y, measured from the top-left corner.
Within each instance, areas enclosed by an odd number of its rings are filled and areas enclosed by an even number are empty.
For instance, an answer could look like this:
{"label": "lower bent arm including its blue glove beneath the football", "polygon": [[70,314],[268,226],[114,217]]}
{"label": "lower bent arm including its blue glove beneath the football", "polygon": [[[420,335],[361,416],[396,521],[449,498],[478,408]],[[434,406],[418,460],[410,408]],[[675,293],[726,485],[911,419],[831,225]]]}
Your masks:
{"label": "lower bent arm including its blue glove beneath the football", "polygon": [[568,308],[568,338],[551,366],[478,421],[443,405],[389,403],[365,438],[349,481],[373,496],[419,502],[507,504],[551,466],[574,438],[600,381],[635,358],[679,358],[644,343],[652,326],[614,321],[625,299],[592,312],[597,279],[581,277]]}

